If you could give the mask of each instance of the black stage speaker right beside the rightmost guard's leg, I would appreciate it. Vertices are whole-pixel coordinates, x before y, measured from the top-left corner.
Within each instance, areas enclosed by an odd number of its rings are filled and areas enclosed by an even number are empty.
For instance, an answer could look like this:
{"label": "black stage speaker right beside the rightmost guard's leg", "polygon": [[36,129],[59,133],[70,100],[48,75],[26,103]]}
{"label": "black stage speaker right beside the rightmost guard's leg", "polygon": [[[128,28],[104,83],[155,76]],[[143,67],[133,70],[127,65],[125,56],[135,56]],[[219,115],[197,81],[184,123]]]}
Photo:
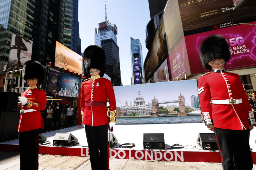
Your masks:
{"label": "black stage speaker right beside the rightmost guard's leg", "polygon": [[202,149],[218,150],[215,133],[199,133],[196,141]]}

